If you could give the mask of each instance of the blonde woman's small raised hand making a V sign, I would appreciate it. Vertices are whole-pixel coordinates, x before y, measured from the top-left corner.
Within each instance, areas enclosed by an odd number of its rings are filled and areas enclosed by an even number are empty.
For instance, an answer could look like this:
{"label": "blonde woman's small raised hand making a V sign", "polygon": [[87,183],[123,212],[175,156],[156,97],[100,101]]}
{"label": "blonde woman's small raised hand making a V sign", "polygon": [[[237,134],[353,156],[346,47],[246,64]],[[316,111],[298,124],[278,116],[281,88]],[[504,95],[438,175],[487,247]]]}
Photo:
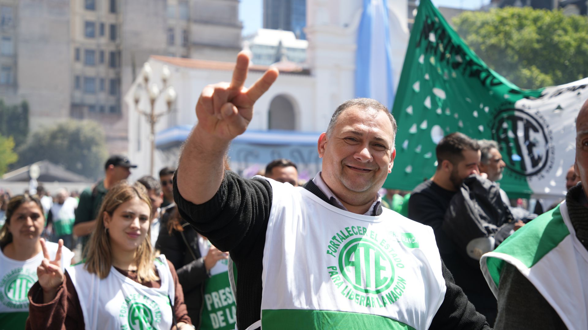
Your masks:
{"label": "blonde woman's small raised hand making a V sign", "polygon": [[64,271],[61,270],[61,248],[64,246],[64,240],[59,240],[55,260],[51,261],[45,239],[41,238],[41,247],[43,249],[43,261],[37,267],[37,277],[39,285],[43,288],[44,302],[52,301],[57,293],[57,288],[64,282]]}

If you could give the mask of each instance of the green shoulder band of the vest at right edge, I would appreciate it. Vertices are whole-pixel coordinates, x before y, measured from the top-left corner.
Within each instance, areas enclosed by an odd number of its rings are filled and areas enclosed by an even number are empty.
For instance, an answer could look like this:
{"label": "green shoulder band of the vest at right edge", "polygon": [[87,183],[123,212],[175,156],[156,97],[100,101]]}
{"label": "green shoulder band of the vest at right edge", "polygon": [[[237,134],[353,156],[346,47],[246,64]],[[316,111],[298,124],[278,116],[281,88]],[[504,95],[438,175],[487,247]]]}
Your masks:
{"label": "green shoulder band of the vest at right edge", "polygon": [[[531,268],[569,234],[570,231],[563,222],[562,213],[557,206],[515,231],[494,252],[515,257],[525,267]],[[488,271],[496,287],[498,287],[504,263],[504,260],[498,258],[491,257],[486,260]]]}

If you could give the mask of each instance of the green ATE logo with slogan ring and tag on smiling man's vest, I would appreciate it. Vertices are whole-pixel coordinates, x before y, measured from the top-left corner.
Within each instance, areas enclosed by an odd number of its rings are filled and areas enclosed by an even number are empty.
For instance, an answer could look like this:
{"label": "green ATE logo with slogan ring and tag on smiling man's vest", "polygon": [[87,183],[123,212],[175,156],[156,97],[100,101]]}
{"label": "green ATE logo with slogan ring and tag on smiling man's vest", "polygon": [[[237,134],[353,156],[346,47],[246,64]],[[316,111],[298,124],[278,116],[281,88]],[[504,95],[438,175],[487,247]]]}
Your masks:
{"label": "green ATE logo with slogan ring and tag on smiling man's vest", "polygon": [[383,237],[366,227],[345,227],[333,235],[326,254],[335,258],[327,267],[329,277],[345,298],[363,307],[394,304],[406,289],[406,280],[396,274],[405,267],[393,246],[419,247],[411,233]]}

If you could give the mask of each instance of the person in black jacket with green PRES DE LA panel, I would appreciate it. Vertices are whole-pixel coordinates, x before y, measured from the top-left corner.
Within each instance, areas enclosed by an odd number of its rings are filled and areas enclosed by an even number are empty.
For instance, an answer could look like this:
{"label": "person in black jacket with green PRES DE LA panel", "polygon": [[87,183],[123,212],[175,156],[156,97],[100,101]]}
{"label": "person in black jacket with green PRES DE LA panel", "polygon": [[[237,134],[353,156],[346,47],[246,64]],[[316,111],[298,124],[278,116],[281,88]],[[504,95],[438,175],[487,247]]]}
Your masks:
{"label": "person in black jacket with green PRES DE LA panel", "polygon": [[156,243],[169,255],[182,284],[188,315],[196,329],[234,329],[235,299],[227,275],[228,254],[212,246],[182,220],[178,209],[168,211]]}

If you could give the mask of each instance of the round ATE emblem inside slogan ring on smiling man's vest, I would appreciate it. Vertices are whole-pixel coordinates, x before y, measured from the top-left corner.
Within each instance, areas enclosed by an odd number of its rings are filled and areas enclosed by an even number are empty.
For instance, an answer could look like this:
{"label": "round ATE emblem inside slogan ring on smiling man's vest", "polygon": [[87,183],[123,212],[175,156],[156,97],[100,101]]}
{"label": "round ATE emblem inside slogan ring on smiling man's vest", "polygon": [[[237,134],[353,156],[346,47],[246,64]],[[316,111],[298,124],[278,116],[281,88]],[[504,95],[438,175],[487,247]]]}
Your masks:
{"label": "round ATE emblem inside slogan ring on smiling man's vest", "polygon": [[364,238],[354,238],[343,246],[339,269],[354,289],[366,294],[379,294],[394,281],[392,258],[379,245]]}

